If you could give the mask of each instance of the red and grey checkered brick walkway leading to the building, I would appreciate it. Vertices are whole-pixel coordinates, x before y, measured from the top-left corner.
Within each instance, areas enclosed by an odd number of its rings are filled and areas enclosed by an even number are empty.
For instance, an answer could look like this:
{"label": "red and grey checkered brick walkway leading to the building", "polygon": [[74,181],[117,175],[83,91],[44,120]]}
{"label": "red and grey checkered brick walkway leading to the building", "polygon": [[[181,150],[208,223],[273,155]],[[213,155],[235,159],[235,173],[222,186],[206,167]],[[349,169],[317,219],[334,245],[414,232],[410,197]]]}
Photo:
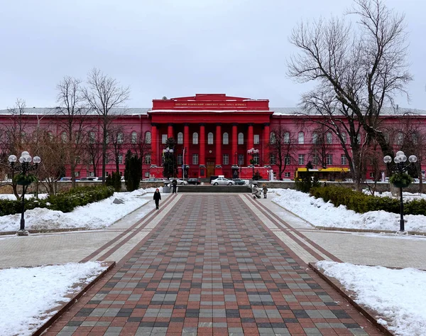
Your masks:
{"label": "red and grey checkered brick walkway leading to the building", "polygon": [[295,237],[266,207],[229,194],[169,202],[141,242],[43,335],[381,335],[284,242],[334,256]]}

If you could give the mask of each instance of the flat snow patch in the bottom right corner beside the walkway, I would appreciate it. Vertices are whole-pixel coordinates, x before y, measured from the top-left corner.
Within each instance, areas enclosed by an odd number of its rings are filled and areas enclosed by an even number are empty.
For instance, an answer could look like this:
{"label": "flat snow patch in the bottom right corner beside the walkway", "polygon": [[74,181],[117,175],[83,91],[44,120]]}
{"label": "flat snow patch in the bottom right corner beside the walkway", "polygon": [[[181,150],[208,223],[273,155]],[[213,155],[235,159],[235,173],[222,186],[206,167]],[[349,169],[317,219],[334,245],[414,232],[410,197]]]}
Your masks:
{"label": "flat snow patch in the bottom right corner beside the walkway", "polygon": [[[337,278],[354,291],[356,303],[376,310],[382,325],[400,336],[426,335],[426,272],[417,269],[386,269],[318,261],[327,276]],[[386,320],[383,320],[386,319]]]}

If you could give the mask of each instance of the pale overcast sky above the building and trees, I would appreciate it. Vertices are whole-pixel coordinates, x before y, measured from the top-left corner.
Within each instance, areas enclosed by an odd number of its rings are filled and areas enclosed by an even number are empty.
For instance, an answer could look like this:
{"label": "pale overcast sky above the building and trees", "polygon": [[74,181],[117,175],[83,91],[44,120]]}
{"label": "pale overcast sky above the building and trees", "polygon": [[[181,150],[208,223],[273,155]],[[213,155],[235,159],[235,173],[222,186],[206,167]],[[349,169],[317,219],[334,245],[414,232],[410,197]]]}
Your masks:
{"label": "pale overcast sky above the building and trees", "polygon": [[[426,109],[426,4],[388,0],[410,33],[408,87],[400,107]],[[152,99],[226,93],[295,107],[312,85],[286,77],[301,19],[340,15],[350,0],[16,0],[0,9],[0,109],[56,105],[64,75],[97,67],[131,87],[129,107]]]}

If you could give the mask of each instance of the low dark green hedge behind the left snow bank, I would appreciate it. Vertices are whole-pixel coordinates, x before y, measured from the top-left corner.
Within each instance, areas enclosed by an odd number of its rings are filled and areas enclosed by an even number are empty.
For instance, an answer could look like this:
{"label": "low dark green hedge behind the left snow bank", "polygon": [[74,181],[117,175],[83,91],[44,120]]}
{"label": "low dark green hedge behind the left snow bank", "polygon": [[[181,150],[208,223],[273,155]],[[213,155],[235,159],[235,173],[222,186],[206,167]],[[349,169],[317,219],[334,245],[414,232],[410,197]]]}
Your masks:
{"label": "low dark green hedge behind the left snow bank", "polygon": [[[72,212],[75,207],[104,200],[114,194],[114,188],[97,185],[94,187],[74,188],[63,193],[50,195],[43,200],[30,198],[25,200],[26,210],[46,207],[50,210]],[[14,215],[21,212],[20,200],[0,200],[0,216]]]}

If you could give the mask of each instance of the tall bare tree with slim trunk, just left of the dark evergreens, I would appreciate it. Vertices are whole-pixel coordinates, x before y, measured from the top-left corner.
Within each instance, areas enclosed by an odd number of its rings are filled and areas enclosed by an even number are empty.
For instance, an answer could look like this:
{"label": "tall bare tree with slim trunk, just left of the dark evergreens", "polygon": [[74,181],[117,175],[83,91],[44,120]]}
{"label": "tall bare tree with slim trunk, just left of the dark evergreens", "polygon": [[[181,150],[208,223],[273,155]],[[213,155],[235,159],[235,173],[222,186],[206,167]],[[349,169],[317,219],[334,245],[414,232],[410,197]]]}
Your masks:
{"label": "tall bare tree with slim trunk, just left of the dark evergreens", "polygon": [[114,109],[123,107],[129,99],[130,89],[121,87],[119,82],[97,69],[89,72],[87,85],[88,87],[83,89],[84,98],[89,107],[98,114],[102,129],[102,183],[105,183],[109,125],[114,119]]}

